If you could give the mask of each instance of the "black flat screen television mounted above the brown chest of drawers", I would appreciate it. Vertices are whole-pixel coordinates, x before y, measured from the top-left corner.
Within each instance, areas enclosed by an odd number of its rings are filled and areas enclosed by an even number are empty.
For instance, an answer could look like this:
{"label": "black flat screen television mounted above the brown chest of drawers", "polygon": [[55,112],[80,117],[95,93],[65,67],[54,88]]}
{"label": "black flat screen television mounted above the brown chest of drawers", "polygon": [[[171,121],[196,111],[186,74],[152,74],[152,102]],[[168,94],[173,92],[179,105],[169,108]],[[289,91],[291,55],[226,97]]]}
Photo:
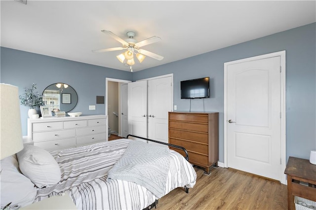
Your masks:
{"label": "black flat screen television mounted above the brown chest of drawers", "polygon": [[209,98],[209,77],[180,82],[181,99]]}

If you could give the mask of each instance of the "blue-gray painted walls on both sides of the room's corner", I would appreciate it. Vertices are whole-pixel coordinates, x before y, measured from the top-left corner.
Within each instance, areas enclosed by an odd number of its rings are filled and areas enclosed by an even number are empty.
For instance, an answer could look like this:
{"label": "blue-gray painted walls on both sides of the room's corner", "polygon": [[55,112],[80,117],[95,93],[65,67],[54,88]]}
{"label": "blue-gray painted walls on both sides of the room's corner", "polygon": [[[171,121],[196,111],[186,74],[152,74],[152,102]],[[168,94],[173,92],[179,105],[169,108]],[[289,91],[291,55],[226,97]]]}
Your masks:
{"label": "blue-gray painted walls on both sides of the room's corner", "polygon": [[[1,47],[0,82],[18,86],[20,94],[33,82],[39,92],[51,83],[68,83],[79,96],[73,111],[104,114],[104,105],[97,105],[95,111],[89,111],[88,105],[95,104],[95,96],[105,95],[106,77],[135,81],[174,73],[174,105],[188,111],[190,100],[180,99],[180,81],[209,76],[211,98],[204,99],[204,105],[205,111],[220,113],[219,156],[223,162],[224,63],[281,50],[286,50],[286,156],[309,159],[310,150],[316,149],[316,23],[133,73]],[[21,106],[23,135],[27,109]],[[191,110],[203,111],[203,100],[193,100]]]}

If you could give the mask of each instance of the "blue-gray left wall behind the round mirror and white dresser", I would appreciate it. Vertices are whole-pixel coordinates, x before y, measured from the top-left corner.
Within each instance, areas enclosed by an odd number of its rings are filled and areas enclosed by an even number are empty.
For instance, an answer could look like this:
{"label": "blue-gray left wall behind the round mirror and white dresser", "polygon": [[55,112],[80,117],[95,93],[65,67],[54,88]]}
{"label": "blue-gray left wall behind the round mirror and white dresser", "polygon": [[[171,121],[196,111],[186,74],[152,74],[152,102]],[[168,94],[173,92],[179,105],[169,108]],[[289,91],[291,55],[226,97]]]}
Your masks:
{"label": "blue-gray left wall behind the round mirror and white dresser", "polygon": [[[78,94],[78,104],[71,112],[105,114],[105,104],[96,104],[96,96],[105,96],[106,77],[131,80],[132,72],[1,47],[1,83],[18,86],[19,95],[32,83],[37,84],[39,93],[53,83],[69,84]],[[96,109],[89,110],[89,105],[96,105]],[[28,109],[21,105],[23,136],[27,135]]]}

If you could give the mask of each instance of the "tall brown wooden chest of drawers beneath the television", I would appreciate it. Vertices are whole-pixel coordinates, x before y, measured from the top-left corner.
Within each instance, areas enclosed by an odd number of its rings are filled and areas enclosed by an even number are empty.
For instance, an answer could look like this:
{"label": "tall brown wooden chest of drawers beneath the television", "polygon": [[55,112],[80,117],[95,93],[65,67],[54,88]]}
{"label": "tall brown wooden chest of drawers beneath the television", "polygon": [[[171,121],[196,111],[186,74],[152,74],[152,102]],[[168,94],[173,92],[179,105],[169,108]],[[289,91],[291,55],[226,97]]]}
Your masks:
{"label": "tall brown wooden chest of drawers beneath the television", "polygon": [[169,112],[168,122],[169,143],[186,148],[189,162],[209,174],[218,161],[218,112]]}

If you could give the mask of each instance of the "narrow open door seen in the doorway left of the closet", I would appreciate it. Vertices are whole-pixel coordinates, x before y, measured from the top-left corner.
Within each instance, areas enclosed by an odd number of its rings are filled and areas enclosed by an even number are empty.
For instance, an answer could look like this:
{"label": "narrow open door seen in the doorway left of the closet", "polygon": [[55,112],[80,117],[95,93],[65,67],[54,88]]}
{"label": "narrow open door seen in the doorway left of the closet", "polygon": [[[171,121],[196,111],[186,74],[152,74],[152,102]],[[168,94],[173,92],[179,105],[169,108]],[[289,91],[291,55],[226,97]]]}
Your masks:
{"label": "narrow open door seen in the doorway left of the closet", "polygon": [[121,111],[121,121],[120,129],[121,136],[126,138],[128,135],[128,85],[123,83],[120,85],[120,111]]}

